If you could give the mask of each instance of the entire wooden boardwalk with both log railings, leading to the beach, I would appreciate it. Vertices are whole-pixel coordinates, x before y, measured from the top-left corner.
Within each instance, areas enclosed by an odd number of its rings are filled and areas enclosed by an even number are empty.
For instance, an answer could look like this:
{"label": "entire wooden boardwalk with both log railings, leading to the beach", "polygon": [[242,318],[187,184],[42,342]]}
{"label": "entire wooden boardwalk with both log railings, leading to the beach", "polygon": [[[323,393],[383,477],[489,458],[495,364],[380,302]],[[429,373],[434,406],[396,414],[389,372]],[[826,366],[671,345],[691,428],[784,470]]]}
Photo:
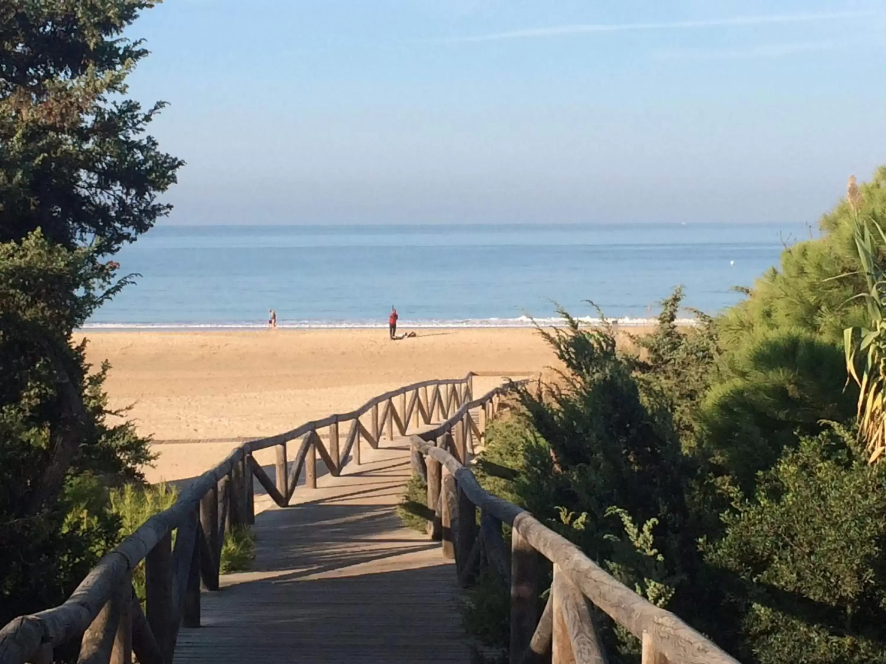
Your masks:
{"label": "entire wooden boardwalk with both log railings, leading to the beach", "polygon": [[[468,465],[470,441],[480,440],[512,386],[474,399],[472,376],[408,385],[352,413],[237,447],[193,479],[175,505],[105,555],[65,603],[0,629],[0,664],[53,661],[66,645],[79,645],[80,660],[97,664],[131,664],[133,654],[142,664],[467,663],[455,569],[438,544],[403,528],[394,513],[411,472],[410,452],[424,457],[428,502],[439,506],[435,524],[451,536],[442,548],[458,560],[462,579],[470,584],[486,572],[510,589],[512,660],[605,661],[596,606],[641,640],[644,664],[739,664],[531,513],[480,486]],[[471,411],[479,409],[478,421]],[[348,433],[339,446],[341,424]],[[393,437],[394,424],[403,435],[410,425],[421,430],[370,450],[383,429]],[[325,442],[317,429],[327,429]],[[299,438],[297,460],[287,471],[286,444]],[[253,455],[271,447],[276,482],[271,467],[260,467]],[[343,476],[318,476],[317,455]],[[310,488],[296,490],[302,473]],[[254,502],[252,489],[259,494]],[[224,576],[220,584],[220,526],[249,522],[256,511],[253,569]],[[510,546],[502,537],[505,524]],[[554,574],[539,613],[546,581],[540,558]],[[143,560],[144,612],[130,579]],[[220,590],[201,593],[201,579]]]}

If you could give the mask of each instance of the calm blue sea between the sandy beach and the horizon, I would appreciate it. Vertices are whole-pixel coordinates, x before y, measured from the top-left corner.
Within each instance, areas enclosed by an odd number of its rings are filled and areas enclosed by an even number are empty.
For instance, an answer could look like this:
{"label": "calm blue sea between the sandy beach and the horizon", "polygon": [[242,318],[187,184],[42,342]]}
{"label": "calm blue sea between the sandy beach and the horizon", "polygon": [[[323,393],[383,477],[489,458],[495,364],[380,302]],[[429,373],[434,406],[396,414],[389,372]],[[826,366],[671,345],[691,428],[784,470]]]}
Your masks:
{"label": "calm blue sea between the sandy beach and the horizon", "polygon": [[553,302],[647,318],[674,286],[715,313],[802,224],[161,227],[120,252],[142,274],[92,326],[519,325]]}

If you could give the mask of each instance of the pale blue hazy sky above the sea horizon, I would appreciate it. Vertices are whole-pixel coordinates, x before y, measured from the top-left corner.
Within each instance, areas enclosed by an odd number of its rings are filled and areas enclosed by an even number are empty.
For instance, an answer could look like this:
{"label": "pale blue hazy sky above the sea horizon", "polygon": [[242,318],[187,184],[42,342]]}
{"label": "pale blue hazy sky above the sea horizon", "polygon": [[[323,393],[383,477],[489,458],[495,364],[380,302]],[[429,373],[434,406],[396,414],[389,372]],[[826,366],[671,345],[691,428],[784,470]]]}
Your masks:
{"label": "pale blue hazy sky above the sea horizon", "polygon": [[883,0],[166,0],[166,223],[811,221],[886,163]]}

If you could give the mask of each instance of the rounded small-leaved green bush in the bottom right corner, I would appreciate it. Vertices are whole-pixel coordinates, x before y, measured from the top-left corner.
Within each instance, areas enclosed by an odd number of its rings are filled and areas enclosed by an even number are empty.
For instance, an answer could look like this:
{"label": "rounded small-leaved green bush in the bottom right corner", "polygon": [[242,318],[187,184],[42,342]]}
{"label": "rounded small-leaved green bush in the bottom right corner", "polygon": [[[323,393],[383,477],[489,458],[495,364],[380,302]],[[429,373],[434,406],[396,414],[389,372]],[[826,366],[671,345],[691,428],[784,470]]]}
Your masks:
{"label": "rounded small-leaved green bush in the bottom right corner", "polygon": [[886,468],[851,431],[803,437],[761,476],[708,555],[734,575],[742,661],[886,661],[884,512]]}

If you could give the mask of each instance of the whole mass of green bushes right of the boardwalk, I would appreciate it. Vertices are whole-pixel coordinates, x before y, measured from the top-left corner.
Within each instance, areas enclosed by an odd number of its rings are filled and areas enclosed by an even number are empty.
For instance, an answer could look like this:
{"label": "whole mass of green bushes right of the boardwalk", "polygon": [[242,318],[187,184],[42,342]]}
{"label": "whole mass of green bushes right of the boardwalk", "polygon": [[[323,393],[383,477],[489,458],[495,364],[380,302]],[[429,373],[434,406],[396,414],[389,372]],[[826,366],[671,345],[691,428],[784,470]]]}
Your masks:
{"label": "whole mass of green bushes right of the boardwalk", "polygon": [[[886,167],[861,200],[886,227]],[[563,375],[523,390],[478,457],[487,490],[745,662],[886,662],[886,467],[867,463],[843,359],[865,281],[849,205],[820,226],[696,328],[676,328],[675,291],[639,353],[563,312],[541,331]],[[506,592],[465,596],[487,652],[507,648]],[[636,639],[603,625],[611,660],[636,661]]]}

